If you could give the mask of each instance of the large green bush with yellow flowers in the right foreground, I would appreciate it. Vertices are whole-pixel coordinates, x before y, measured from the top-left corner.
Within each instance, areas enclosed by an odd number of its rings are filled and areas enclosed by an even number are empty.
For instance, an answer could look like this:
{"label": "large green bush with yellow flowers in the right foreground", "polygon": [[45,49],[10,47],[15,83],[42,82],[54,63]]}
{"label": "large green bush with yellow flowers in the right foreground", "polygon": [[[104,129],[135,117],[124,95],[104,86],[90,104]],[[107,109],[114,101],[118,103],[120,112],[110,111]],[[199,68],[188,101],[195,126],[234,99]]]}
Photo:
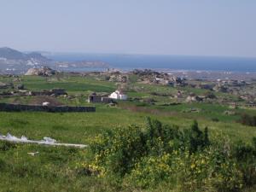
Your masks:
{"label": "large green bush with yellow flowers in the right foreground", "polygon": [[254,145],[256,139],[252,146],[232,148],[219,138],[210,141],[207,127],[201,131],[196,121],[180,131],[148,118],[144,127],[131,125],[94,138],[93,157],[82,168],[143,189],[171,183],[171,189],[182,191],[238,191],[255,184]]}

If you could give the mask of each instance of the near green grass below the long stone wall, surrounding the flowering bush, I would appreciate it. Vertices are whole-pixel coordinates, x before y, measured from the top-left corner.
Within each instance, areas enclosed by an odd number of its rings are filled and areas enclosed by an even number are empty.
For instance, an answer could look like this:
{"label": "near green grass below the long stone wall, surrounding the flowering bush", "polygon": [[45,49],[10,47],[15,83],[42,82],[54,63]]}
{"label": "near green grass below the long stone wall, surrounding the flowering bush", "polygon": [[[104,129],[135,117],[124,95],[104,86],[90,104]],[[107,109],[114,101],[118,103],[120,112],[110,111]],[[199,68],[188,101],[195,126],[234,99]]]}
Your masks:
{"label": "near green grass below the long stone wall, surrounding the flowering bush", "polygon": [[[193,119],[177,116],[131,112],[120,108],[99,106],[96,113],[0,113],[0,132],[32,139],[53,137],[63,143],[89,143],[91,137],[102,130],[144,125],[145,118],[160,119],[166,124],[181,128]],[[199,119],[202,127],[208,126],[212,134],[221,133],[231,139],[247,142],[256,136],[254,127],[235,122],[212,122]],[[27,153],[39,154],[31,156]],[[76,170],[86,162],[87,149],[50,148],[38,145],[15,145],[0,150],[1,191],[119,191],[102,178],[88,177]],[[67,186],[67,183],[68,186]],[[137,189],[122,189],[131,191]],[[151,189],[154,191],[154,189]],[[158,191],[165,191],[158,189]],[[250,190],[248,190],[250,191]],[[253,191],[253,190],[251,190]]]}

